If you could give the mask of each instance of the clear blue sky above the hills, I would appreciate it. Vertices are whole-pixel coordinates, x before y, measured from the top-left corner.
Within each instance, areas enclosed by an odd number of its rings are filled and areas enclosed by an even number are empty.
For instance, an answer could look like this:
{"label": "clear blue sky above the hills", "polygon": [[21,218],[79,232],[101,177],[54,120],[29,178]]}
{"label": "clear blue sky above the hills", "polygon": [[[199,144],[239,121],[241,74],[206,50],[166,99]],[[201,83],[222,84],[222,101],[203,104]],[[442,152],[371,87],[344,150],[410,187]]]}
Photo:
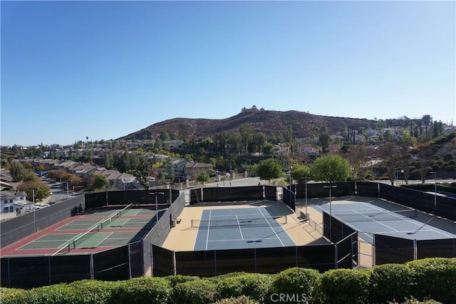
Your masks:
{"label": "clear blue sky above the hills", "polygon": [[242,108],[456,124],[455,1],[1,1],[0,145]]}

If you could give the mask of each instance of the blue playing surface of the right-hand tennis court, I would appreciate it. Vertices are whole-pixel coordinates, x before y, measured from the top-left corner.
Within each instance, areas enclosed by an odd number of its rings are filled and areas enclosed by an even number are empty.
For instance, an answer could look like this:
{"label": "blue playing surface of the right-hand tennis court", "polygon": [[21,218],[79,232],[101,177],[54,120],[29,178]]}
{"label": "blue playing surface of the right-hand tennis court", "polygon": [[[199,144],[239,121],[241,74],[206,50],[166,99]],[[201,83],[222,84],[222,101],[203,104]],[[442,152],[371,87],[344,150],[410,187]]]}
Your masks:
{"label": "blue playing surface of the right-hand tennis court", "polygon": [[[313,206],[329,214],[329,204]],[[359,231],[364,241],[372,243],[372,234],[383,234],[403,239],[452,239],[456,234],[432,226],[431,216],[413,209],[390,211],[368,203],[332,204],[331,214],[339,221]],[[416,216],[416,217],[411,217]],[[430,220],[430,221],[429,221]]]}

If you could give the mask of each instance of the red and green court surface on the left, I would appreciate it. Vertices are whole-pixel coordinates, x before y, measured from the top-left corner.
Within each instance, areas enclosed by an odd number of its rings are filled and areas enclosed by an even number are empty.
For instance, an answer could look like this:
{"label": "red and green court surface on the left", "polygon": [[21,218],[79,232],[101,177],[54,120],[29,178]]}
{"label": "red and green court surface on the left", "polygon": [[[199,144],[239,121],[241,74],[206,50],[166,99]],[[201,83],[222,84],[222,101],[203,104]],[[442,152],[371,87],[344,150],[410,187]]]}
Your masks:
{"label": "red and green court surface on the left", "polygon": [[2,248],[2,256],[95,253],[140,241],[157,221],[155,210],[132,204],[121,207],[93,209],[71,216]]}

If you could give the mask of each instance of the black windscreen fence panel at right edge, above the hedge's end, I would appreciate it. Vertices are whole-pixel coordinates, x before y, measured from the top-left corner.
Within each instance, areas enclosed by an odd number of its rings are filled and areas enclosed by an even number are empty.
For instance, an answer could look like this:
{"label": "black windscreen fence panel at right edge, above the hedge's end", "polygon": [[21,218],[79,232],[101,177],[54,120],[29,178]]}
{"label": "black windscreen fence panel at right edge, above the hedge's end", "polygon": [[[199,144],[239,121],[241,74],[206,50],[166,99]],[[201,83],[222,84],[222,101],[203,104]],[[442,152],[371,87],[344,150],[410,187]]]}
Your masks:
{"label": "black windscreen fence panel at right edge, above the hedge's end", "polygon": [[417,258],[455,258],[456,239],[416,241]]}

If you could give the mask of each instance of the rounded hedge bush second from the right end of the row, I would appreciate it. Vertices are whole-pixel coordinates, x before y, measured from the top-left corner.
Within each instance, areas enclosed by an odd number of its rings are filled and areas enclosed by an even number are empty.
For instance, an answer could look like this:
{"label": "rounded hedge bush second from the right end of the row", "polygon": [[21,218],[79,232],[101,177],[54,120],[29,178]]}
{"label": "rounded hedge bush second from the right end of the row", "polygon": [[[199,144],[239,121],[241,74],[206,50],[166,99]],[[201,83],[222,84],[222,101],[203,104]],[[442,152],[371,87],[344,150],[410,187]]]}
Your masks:
{"label": "rounded hedge bush second from the right end of the row", "polygon": [[410,298],[412,271],[405,264],[385,264],[371,270],[371,303],[388,303]]}

